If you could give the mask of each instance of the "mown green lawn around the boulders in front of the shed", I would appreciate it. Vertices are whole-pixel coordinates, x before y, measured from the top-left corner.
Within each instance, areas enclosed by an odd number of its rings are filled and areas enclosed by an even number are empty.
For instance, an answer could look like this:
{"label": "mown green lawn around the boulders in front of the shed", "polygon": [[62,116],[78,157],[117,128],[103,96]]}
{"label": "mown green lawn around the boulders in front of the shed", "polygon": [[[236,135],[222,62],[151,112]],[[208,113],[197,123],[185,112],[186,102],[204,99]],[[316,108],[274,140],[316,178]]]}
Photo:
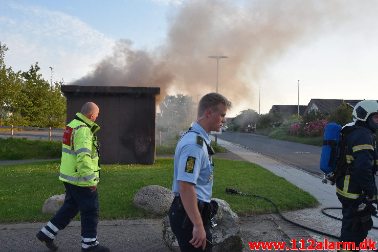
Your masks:
{"label": "mown green lawn around the boulders in front of the shed", "polygon": [[[268,197],[282,211],[313,207],[317,200],[264,168],[241,161],[213,158],[213,198],[226,200],[238,215],[275,212],[269,202],[228,194],[226,188]],[[47,221],[42,214],[47,198],[64,193],[58,180],[60,161],[0,166],[0,222]],[[154,165],[103,165],[98,186],[101,220],[152,217],[134,208],[134,196],[148,185],[172,186],[173,159],[158,158]],[[78,217],[76,217],[78,219]]]}

